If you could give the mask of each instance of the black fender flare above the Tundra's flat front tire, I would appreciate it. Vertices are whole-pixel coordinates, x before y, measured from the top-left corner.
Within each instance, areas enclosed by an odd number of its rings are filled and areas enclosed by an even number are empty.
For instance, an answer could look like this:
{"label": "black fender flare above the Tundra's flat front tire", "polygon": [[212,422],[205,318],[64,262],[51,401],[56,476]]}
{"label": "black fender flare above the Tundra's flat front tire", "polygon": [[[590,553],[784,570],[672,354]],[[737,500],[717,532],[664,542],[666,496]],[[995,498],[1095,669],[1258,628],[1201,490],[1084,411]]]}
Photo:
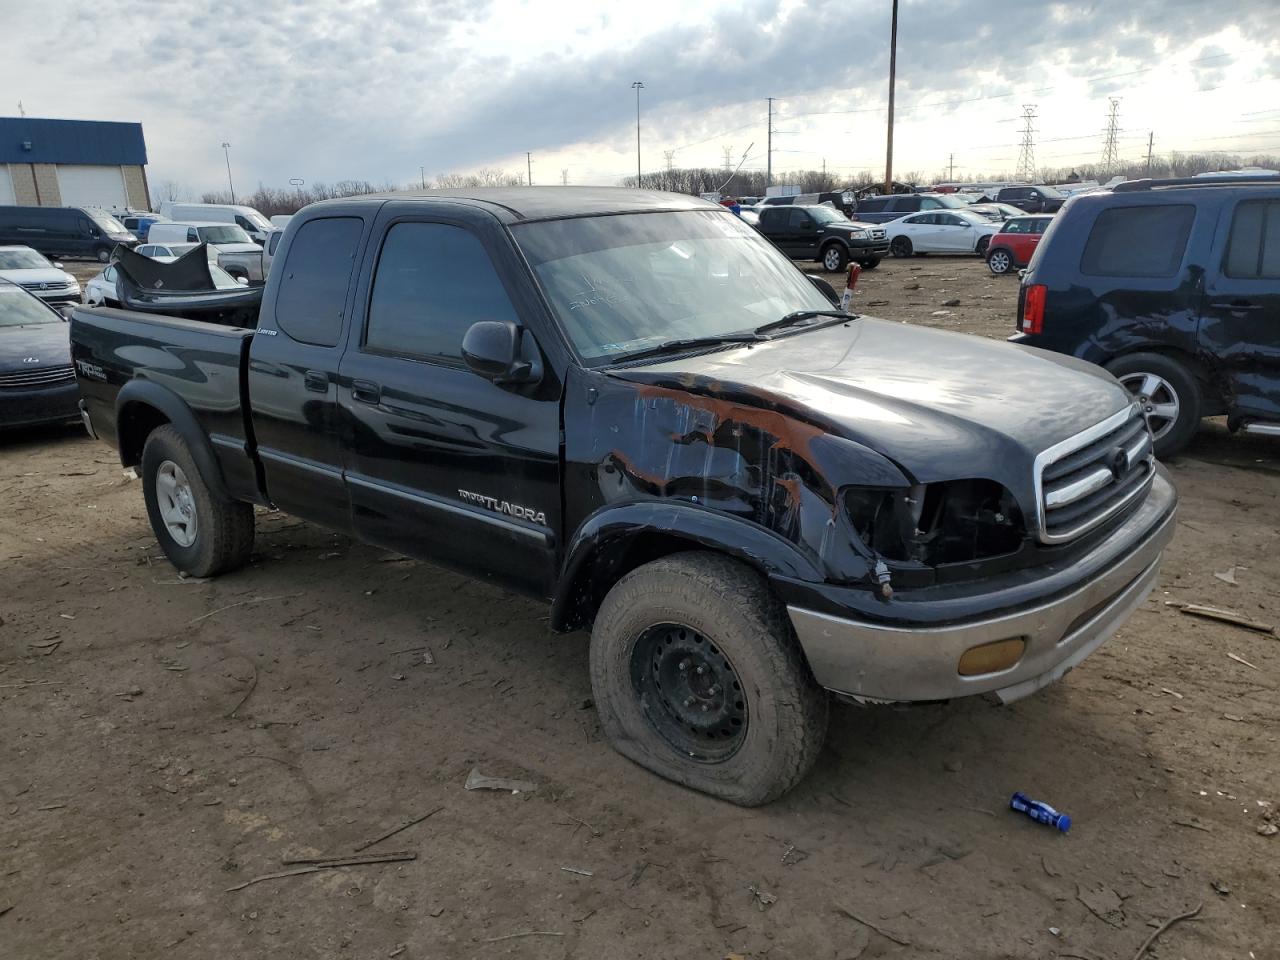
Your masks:
{"label": "black fender flare above the Tundra's flat front tire", "polygon": [[723,553],[765,576],[824,579],[795,544],[746,520],[672,500],[604,507],[582,521],[566,548],[552,599],[553,630],[573,630],[594,616],[604,594],[630,571],[627,553],[641,538],[662,543],[663,553],[681,548]]}

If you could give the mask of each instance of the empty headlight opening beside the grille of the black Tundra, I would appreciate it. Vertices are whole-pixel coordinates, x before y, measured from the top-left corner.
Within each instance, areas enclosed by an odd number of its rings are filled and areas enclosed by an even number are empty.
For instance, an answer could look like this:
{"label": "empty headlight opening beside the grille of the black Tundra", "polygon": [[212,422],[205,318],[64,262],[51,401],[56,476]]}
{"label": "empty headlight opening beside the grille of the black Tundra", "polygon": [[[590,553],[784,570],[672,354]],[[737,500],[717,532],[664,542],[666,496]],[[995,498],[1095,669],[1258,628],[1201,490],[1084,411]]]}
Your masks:
{"label": "empty headlight opening beside the grille of the black Tundra", "polygon": [[1015,552],[1025,536],[1012,494],[993,480],[845,492],[859,539],[887,561],[966,563]]}

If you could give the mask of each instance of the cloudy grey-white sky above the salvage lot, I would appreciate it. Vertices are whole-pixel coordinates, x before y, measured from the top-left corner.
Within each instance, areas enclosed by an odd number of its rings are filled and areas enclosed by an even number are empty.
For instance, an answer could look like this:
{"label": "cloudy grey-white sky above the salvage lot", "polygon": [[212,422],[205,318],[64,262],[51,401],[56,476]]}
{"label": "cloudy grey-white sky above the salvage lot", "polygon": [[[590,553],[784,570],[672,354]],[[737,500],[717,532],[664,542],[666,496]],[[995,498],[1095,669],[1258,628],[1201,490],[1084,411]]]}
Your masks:
{"label": "cloudy grey-white sky above the salvage lot", "polygon": [[[902,0],[895,172],[1280,154],[1276,0]],[[1212,5],[1210,5],[1212,6]],[[481,166],[534,183],[646,170],[883,172],[890,0],[0,0],[0,114],[138,120],[151,183],[411,183]],[[749,151],[749,152],[748,152]]]}

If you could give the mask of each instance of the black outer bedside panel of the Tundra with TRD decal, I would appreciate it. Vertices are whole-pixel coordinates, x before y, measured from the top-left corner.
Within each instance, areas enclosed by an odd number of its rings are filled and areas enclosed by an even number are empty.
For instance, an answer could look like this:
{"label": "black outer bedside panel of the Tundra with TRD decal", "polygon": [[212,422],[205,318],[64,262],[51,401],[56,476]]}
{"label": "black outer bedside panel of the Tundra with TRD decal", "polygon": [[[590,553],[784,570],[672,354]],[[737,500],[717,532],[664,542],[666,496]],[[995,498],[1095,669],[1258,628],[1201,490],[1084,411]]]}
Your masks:
{"label": "black outer bedside panel of the Tundra with TRD decal", "polygon": [[133,420],[131,398],[146,397],[170,420],[195,415],[229,490],[256,499],[252,428],[244,403],[252,339],[253,330],[241,326],[77,307],[72,362],[93,431],[116,445],[128,465],[137,462],[146,435],[137,436],[143,425]]}

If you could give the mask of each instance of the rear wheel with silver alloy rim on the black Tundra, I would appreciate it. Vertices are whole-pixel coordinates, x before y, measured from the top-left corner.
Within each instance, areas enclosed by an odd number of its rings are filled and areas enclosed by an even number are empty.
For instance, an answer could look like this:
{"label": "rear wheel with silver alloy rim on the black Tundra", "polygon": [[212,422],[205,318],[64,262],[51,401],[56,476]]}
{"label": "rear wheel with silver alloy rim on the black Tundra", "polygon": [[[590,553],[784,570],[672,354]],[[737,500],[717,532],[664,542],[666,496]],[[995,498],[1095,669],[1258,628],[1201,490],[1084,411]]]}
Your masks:
{"label": "rear wheel with silver alloy rim on the black Tundra", "polygon": [[142,448],[142,494],[165,557],[195,577],[243,567],[253,549],[253,508],[216,495],[191,448],[170,425]]}

